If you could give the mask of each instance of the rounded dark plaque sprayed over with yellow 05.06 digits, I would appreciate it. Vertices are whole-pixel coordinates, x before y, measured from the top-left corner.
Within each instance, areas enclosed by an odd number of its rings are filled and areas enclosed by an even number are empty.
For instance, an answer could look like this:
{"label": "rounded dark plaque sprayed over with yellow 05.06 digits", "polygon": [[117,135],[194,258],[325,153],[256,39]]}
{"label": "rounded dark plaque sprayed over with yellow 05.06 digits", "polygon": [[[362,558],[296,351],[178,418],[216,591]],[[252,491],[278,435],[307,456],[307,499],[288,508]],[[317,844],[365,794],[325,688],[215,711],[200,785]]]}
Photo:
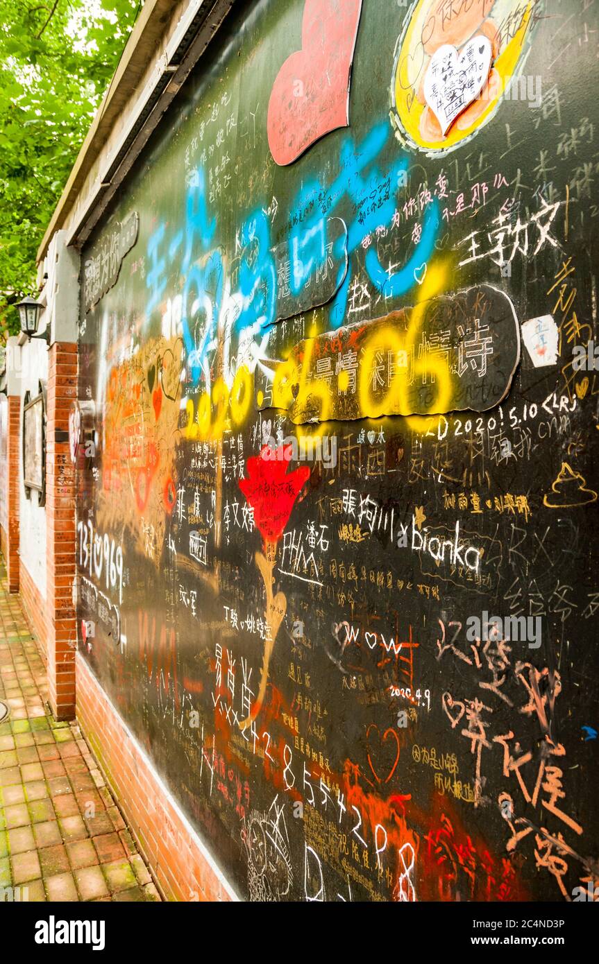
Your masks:
{"label": "rounded dark plaque sprayed over with yellow 05.06 digits", "polygon": [[442,294],[449,270],[429,267],[413,308],[300,341],[275,372],[272,407],[296,425],[410,415],[421,431],[418,415],[498,405],[520,359],[515,310],[491,285]]}

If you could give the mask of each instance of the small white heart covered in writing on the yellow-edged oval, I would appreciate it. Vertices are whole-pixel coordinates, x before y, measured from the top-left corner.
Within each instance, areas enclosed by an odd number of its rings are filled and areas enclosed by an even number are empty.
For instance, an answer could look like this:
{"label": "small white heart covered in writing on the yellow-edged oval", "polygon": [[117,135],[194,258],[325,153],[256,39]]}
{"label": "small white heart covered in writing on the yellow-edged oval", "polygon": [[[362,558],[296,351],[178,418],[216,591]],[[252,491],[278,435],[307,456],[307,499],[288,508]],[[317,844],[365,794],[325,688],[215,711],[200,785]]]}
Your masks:
{"label": "small white heart covered in writing on the yellow-edged oval", "polygon": [[489,77],[491,41],[478,34],[458,54],[444,43],[435,50],[424,77],[424,97],[444,135],[456,117],[476,100]]}

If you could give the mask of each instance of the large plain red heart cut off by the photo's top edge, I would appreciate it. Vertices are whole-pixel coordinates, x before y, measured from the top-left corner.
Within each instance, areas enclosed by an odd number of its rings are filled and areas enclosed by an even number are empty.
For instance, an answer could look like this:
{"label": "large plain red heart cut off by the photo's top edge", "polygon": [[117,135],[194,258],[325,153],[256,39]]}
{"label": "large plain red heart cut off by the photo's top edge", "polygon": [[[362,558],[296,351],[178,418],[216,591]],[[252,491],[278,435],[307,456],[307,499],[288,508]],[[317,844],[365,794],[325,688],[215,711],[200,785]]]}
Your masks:
{"label": "large plain red heart cut off by the photo's top edge", "polygon": [[287,57],[268,102],[268,144],[290,164],[349,123],[349,72],[362,0],[306,0],[302,49]]}

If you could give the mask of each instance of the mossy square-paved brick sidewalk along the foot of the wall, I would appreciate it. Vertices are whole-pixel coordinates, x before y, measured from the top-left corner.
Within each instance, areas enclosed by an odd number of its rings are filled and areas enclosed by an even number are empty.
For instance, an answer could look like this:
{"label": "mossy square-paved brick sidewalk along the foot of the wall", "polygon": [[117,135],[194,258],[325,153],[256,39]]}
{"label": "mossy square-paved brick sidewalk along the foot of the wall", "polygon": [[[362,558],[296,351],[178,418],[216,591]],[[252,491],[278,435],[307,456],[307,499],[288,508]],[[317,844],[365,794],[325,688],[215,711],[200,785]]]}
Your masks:
{"label": "mossy square-paved brick sidewalk along the foot of the wall", "polygon": [[17,887],[22,900],[159,900],[81,731],[46,706],[43,660],[1,558],[0,699],[11,708],[0,724],[0,901]]}

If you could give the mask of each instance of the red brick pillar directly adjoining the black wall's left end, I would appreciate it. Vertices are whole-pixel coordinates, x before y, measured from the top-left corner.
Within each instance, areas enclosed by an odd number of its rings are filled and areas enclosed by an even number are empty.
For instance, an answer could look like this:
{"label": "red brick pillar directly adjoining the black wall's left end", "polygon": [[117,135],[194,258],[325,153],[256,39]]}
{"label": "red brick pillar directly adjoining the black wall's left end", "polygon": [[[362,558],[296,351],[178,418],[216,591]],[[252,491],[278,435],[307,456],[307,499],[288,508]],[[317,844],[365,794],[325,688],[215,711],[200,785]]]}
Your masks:
{"label": "red brick pillar directly adjoining the black wall's left end", "polygon": [[46,423],[46,606],[49,703],[57,720],[75,715],[75,473],[68,452],[68,413],[77,394],[77,345],[48,351]]}

